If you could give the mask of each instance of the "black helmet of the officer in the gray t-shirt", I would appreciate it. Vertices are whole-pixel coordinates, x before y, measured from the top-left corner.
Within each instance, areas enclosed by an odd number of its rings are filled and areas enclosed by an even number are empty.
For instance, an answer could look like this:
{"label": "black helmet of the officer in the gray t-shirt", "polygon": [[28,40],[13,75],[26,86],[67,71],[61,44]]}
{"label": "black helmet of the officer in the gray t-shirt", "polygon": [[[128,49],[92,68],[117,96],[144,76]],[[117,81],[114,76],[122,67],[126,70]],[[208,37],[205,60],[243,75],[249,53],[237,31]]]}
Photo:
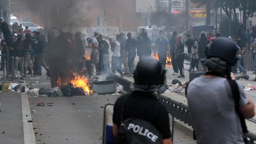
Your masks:
{"label": "black helmet of the officer in the gray t-shirt", "polygon": [[234,41],[226,37],[218,37],[207,46],[206,57],[218,57],[233,66],[238,60],[238,50],[239,47]]}

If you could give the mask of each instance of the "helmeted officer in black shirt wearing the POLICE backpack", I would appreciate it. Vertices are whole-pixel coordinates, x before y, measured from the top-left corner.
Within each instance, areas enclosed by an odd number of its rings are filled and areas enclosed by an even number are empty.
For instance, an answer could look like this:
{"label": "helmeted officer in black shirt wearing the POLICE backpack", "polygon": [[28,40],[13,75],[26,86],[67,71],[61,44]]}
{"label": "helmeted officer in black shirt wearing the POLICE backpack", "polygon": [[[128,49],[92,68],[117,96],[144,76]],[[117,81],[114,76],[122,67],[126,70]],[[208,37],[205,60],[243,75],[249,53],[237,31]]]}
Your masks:
{"label": "helmeted officer in black shirt wearing the POLICE backpack", "polygon": [[139,119],[158,130],[163,144],[172,144],[168,111],[156,98],[167,88],[164,66],[153,57],[143,57],[137,63],[133,78],[132,92],[119,97],[114,104],[114,137],[119,134],[121,121]]}

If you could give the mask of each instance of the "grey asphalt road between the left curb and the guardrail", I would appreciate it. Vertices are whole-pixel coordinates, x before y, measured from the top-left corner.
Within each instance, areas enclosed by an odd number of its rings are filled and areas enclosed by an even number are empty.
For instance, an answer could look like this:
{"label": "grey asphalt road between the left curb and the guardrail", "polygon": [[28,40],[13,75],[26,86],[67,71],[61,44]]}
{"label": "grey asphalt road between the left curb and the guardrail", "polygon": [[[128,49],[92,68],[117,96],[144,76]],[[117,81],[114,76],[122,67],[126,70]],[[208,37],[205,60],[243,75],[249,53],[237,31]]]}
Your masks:
{"label": "grey asphalt road between the left curb and the guardrail", "polygon": [[[29,98],[36,143],[102,143],[104,105],[119,95],[86,95],[76,97]],[[35,106],[36,103],[55,103]],[[175,143],[194,140],[175,129]]]}

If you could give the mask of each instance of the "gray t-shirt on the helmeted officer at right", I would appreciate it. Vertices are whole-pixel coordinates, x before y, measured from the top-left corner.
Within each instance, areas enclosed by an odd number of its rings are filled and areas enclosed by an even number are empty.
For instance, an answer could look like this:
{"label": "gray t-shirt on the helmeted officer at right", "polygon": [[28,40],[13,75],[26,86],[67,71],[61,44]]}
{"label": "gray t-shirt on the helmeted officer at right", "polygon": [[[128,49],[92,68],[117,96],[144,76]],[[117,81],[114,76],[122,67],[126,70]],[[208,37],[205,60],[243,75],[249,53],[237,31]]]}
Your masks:
{"label": "gray t-shirt on the helmeted officer at right", "polygon": [[[248,103],[244,89],[238,84],[240,107]],[[187,89],[197,143],[244,143],[240,120],[235,112],[231,87],[227,79],[200,76]]]}

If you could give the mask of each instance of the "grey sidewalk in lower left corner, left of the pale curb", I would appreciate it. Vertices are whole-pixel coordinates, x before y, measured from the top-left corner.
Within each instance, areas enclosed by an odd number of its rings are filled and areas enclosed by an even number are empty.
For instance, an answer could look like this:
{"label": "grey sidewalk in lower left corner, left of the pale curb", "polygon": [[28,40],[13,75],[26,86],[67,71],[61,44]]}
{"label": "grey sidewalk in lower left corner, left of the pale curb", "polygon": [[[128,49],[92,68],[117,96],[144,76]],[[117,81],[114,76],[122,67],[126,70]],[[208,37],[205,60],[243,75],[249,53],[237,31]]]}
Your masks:
{"label": "grey sidewalk in lower left corner, left of the pale curb", "polygon": [[21,93],[0,92],[0,143],[24,143]]}

